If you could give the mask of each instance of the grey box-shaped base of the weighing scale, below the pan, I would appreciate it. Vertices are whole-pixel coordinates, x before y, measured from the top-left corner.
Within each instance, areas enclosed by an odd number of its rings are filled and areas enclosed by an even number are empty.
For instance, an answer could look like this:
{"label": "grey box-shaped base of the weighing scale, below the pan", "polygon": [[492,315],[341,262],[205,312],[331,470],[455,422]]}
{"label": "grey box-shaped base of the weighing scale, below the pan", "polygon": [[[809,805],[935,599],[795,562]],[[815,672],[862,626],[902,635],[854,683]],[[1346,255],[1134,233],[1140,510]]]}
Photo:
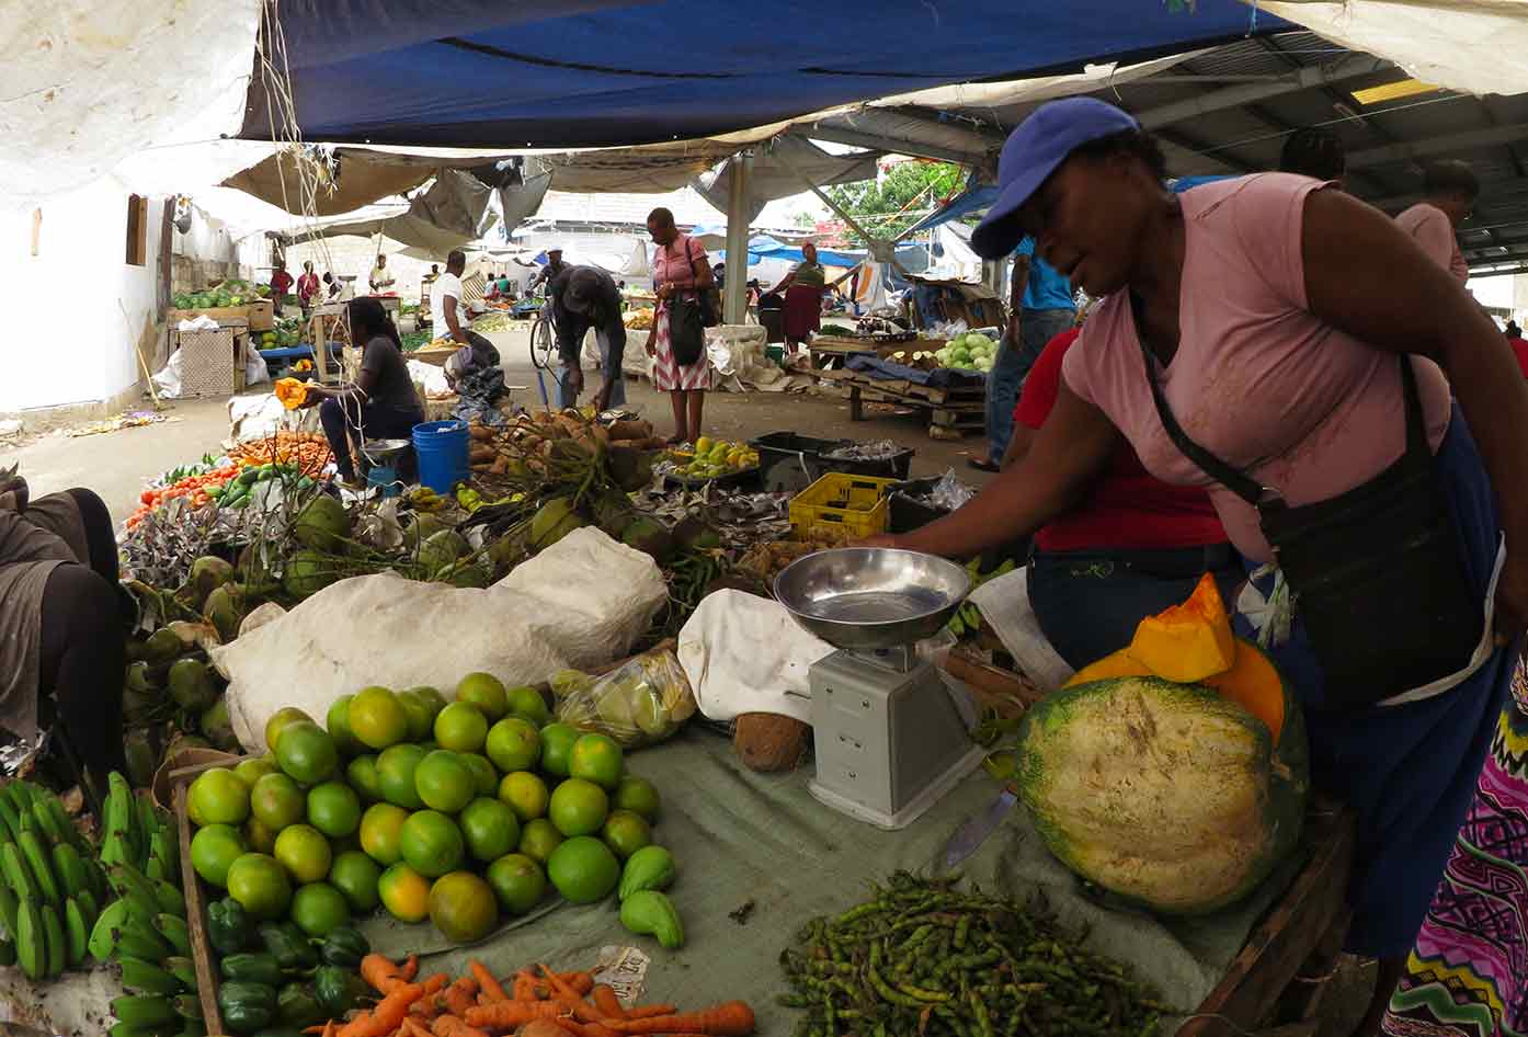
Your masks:
{"label": "grey box-shaped base of the weighing scale, below the pan", "polygon": [[811,666],[816,777],[808,790],[856,820],[894,831],[984,756],[938,670],[909,648],[837,651]]}

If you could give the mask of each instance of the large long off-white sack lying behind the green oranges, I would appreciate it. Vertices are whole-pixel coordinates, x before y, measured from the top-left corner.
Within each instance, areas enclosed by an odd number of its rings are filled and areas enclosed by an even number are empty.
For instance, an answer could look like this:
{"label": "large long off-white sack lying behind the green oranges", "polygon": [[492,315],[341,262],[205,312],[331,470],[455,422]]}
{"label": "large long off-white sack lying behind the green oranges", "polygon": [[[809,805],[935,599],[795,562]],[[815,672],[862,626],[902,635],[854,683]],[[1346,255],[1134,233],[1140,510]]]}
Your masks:
{"label": "large long off-white sack lying behind the green oranges", "polygon": [[474,670],[544,681],[625,655],[668,588],[652,559],[597,528],[575,530],[487,590],[356,576],[211,652],[240,744],[264,751],[283,706],[322,718],[341,695],[428,684],[448,696]]}

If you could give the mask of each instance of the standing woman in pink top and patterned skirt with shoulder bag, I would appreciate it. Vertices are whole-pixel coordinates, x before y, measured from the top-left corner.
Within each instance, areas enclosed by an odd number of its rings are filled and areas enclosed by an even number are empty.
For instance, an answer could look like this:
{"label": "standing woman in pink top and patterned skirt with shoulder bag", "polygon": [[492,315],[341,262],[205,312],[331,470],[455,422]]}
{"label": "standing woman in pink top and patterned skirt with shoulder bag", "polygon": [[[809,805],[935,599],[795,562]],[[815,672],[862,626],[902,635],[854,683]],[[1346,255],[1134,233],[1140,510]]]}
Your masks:
{"label": "standing woman in pink top and patterned skirt with shoulder bag", "polygon": [[674,435],[669,443],[694,443],[700,438],[706,389],[711,388],[711,360],[704,348],[692,363],[680,363],[674,357],[669,345],[669,299],[681,292],[694,298],[697,289],[711,287],[711,261],[700,241],[678,232],[674,214],[668,209],[652,209],[648,215],[648,234],[659,246],[652,257],[652,287],[659,305],[652,315],[652,334],[648,336],[648,356],[657,359],[652,386],[668,393],[674,405]]}

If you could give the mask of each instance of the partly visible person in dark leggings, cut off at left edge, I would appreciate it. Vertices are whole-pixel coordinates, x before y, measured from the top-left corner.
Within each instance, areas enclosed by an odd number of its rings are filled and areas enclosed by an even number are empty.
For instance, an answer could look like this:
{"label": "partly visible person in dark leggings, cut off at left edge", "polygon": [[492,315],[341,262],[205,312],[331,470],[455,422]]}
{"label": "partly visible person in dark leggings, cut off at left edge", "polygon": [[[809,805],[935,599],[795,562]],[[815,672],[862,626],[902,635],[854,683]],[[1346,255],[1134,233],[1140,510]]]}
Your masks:
{"label": "partly visible person in dark leggings, cut off at left edge", "polygon": [[53,727],[105,794],[122,756],[127,635],[112,516],[90,490],[28,499],[0,475],[0,727]]}

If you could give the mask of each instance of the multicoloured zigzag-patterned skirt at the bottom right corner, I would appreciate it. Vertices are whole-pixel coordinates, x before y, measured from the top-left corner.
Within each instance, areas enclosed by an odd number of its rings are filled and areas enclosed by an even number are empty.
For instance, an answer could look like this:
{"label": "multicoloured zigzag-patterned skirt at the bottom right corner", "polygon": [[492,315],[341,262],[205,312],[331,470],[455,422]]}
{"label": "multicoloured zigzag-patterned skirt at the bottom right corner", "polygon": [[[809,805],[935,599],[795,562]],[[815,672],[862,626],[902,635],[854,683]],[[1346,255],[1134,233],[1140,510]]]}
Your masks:
{"label": "multicoloured zigzag-patterned skirt at the bottom right corner", "polygon": [[1394,1037],[1497,1037],[1528,1029],[1528,661],[1423,932],[1390,997]]}

